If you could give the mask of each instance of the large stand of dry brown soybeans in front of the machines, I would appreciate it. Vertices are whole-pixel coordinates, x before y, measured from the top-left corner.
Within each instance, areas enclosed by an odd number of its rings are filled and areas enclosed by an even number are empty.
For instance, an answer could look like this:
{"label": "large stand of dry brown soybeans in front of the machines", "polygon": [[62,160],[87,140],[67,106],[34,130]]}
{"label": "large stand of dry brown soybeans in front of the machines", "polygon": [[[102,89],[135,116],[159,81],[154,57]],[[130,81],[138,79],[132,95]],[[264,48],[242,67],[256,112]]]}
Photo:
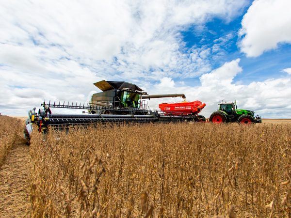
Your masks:
{"label": "large stand of dry brown soybeans in front of the machines", "polygon": [[291,217],[291,125],[51,129],[30,152],[32,217]]}

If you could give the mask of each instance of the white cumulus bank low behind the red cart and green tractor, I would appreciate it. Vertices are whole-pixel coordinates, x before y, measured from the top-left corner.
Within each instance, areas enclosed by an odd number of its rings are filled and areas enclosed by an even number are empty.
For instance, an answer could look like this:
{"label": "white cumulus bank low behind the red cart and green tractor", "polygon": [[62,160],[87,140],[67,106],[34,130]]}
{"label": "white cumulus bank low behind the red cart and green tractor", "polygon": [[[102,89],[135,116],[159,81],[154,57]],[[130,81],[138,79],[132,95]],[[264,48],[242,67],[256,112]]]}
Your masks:
{"label": "white cumulus bank low behind the red cart and green tractor", "polygon": [[[177,84],[174,87],[167,87],[163,84],[161,88],[160,84],[156,84],[151,90],[159,93],[185,93],[188,101],[200,100],[207,105],[201,112],[205,117],[209,117],[222,100],[227,102],[236,100],[238,108],[254,110],[264,118],[290,118],[291,77],[288,75],[284,78],[254,81],[245,85],[236,84],[234,78],[240,73],[243,74],[239,62],[240,59],[226,62],[210,73],[202,75],[201,84],[198,86]],[[171,81],[171,78],[166,80]],[[175,101],[182,99],[152,99],[149,105],[158,107],[160,103]]]}

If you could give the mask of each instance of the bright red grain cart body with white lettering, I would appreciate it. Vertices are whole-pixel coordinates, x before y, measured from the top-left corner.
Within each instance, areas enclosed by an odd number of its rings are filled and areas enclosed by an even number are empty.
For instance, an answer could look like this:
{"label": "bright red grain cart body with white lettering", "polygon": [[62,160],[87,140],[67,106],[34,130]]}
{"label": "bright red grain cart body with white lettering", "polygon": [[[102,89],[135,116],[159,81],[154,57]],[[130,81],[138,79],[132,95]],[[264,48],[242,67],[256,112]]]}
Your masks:
{"label": "bright red grain cart body with white lettering", "polygon": [[190,102],[178,102],[178,103],[162,103],[159,104],[159,108],[165,113],[199,113],[201,109],[206,106],[201,101],[190,101]]}

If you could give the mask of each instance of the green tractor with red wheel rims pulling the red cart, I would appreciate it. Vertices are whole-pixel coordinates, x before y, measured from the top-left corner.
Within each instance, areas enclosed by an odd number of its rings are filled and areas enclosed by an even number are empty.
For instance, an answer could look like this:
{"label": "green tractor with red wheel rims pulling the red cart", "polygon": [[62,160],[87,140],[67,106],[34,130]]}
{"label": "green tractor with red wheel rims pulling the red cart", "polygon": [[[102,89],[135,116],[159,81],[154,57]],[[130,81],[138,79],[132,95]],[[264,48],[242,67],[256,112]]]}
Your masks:
{"label": "green tractor with red wheel rims pulling the red cart", "polygon": [[211,123],[229,123],[238,122],[239,124],[251,125],[255,123],[261,123],[259,115],[254,117],[255,112],[245,109],[237,109],[236,102],[219,104],[219,109],[213,112],[209,121]]}

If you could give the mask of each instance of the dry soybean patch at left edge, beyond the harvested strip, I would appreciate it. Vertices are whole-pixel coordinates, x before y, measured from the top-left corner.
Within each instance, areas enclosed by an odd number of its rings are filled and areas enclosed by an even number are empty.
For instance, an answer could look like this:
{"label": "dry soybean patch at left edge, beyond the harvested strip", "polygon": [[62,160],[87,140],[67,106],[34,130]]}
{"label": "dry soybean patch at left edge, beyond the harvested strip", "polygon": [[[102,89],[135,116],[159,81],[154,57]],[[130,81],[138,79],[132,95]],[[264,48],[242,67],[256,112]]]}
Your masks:
{"label": "dry soybean patch at left edge, beyond the harvested strip", "polygon": [[21,140],[23,121],[0,116],[0,169],[16,140]]}

